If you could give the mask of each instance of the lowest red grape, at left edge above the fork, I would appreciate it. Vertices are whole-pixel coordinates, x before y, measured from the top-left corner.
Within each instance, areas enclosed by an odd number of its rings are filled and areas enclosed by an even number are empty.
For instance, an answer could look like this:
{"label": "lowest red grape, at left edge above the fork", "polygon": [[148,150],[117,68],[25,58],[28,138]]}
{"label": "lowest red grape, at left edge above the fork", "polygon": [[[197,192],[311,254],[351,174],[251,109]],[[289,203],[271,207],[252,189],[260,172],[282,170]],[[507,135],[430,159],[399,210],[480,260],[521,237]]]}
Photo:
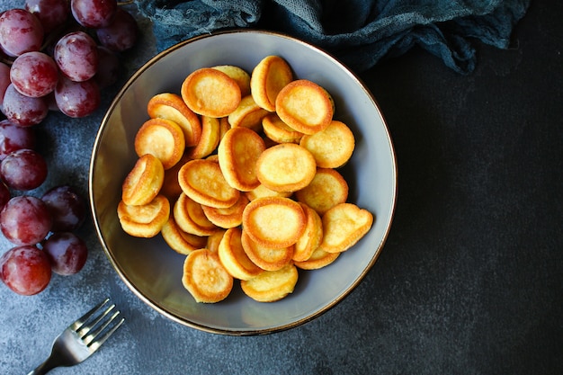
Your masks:
{"label": "lowest red grape, at left edge above the fork", "polygon": [[37,246],[16,246],[0,257],[0,278],[14,292],[32,296],[51,280],[49,257]]}

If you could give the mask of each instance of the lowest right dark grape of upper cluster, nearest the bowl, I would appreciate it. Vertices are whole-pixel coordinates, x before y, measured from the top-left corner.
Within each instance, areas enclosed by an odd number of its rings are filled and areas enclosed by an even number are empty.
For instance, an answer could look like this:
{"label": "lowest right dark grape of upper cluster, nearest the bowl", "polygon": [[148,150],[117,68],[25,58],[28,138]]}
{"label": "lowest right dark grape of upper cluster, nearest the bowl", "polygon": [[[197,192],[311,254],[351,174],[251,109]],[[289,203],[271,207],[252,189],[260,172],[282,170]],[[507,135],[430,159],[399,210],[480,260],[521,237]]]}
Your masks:
{"label": "lowest right dark grape of upper cluster, nearest the bowl", "polygon": [[94,78],[85,82],[73,82],[61,77],[55,89],[55,100],[60,112],[67,116],[85,117],[100,105],[100,88]]}

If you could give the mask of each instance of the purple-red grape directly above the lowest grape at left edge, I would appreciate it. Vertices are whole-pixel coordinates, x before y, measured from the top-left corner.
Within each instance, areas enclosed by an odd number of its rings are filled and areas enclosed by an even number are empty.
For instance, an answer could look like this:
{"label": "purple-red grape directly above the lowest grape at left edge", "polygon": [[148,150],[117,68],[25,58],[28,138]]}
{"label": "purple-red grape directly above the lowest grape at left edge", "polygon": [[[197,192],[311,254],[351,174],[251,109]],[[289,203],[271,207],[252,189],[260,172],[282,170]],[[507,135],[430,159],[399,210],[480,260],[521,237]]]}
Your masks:
{"label": "purple-red grape directly above the lowest grape at left edge", "polygon": [[44,201],[30,195],[18,195],[0,211],[0,230],[15,245],[39,244],[51,228],[52,219]]}

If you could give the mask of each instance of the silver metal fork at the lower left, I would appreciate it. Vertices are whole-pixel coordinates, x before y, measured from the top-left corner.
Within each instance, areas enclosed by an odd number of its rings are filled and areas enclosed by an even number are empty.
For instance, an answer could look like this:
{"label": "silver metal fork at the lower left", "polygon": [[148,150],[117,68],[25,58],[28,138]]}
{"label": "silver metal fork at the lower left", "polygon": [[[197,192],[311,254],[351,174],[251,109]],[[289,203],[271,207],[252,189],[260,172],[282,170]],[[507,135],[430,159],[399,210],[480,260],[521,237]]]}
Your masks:
{"label": "silver metal fork at the lower left", "polygon": [[121,326],[125,318],[110,299],[88,311],[84,317],[67,327],[53,342],[49,358],[28,375],[46,374],[56,367],[74,366],[85,361]]}

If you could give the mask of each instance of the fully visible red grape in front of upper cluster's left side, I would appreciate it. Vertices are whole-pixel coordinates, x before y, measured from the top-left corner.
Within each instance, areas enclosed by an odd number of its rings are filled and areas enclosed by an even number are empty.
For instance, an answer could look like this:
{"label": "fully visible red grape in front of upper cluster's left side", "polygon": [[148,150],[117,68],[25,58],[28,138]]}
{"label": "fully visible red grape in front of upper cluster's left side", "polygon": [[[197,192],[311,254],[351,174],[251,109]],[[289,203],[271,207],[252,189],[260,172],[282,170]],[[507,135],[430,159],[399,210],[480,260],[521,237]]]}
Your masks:
{"label": "fully visible red grape in front of upper cluster's left side", "polygon": [[38,98],[55,90],[58,67],[52,58],[42,52],[25,52],[13,60],[10,79],[20,94]]}

